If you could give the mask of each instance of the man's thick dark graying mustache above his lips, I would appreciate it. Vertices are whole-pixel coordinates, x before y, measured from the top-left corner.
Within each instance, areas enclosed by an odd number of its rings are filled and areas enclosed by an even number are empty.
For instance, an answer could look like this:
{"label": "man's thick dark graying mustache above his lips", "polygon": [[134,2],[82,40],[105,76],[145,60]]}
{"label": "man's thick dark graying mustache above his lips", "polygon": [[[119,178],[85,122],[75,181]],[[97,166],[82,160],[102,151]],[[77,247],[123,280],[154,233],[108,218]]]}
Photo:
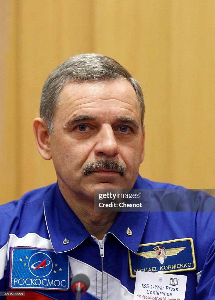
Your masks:
{"label": "man's thick dark graying mustache above his lips", "polygon": [[125,168],[118,163],[117,161],[102,159],[100,161],[94,161],[89,163],[84,168],[84,175],[89,175],[92,172],[105,169],[105,170],[114,170],[120,173],[121,176],[125,176]]}

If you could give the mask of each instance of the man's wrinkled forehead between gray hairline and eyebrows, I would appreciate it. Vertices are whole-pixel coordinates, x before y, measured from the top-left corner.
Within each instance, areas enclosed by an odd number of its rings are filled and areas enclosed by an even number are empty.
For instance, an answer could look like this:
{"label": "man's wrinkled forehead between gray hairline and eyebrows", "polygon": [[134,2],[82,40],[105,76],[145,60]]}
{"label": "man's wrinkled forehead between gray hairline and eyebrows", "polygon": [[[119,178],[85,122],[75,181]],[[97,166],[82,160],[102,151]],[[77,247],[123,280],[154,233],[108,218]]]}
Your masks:
{"label": "man's wrinkled forehead between gray hairline and eyebrows", "polygon": [[136,92],[125,78],[65,85],[58,98],[56,114],[63,111],[78,113],[93,107],[105,107],[106,110],[118,107],[140,115]]}

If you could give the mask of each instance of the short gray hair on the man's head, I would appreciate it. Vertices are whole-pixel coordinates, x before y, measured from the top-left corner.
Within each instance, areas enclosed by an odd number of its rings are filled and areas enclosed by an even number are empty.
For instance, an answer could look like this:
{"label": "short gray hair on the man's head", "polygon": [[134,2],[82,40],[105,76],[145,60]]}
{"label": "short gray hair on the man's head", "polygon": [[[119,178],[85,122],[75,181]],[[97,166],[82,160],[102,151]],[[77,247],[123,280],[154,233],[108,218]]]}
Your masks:
{"label": "short gray hair on the man's head", "polygon": [[66,84],[97,82],[117,78],[126,78],[133,86],[139,101],[143,130],[145,104],[139,82],[117,61],[96,53],[85,53],[70,57],[52,71],[43,85],[40,117],[46,122],[49,131],[53,134],[58,97]]}

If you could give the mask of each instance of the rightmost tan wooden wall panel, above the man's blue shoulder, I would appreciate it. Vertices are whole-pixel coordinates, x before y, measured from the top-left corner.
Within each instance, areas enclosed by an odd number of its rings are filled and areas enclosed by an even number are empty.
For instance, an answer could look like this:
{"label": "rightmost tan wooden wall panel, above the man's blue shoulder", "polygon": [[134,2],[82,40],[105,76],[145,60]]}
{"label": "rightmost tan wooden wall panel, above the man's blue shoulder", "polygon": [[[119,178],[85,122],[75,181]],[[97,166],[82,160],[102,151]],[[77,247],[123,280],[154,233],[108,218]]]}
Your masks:
{"label": "rightmost tan wooden wall panel, above the man's blue shoulder", "polygon": [[215,187],[215,2],[174,1],[170,76],[173,182]]}

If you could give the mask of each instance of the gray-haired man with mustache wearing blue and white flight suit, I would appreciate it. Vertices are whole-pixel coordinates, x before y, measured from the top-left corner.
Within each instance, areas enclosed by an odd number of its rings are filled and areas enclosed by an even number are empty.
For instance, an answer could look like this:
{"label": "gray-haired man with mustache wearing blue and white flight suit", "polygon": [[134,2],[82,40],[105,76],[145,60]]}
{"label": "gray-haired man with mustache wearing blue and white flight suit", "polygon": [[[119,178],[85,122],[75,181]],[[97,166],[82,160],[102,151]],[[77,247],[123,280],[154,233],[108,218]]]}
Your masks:
{"label": "gray-haired man with mustache wearing blue and white flight suit", "polygon": [[96,188],[149,189],[146,203],[171,188],[180,203],[205,197],[138,175],[144,112],[139,83],[106,56],[76,55],[49,75],[34,134],[57,183],[1,206],[1,291],[74,299],[70,277],[84,273],[82,299],[132,300],[136,271],[168,271],[187,276],[185,299],[214,299],[213,213],[94,211]]}

